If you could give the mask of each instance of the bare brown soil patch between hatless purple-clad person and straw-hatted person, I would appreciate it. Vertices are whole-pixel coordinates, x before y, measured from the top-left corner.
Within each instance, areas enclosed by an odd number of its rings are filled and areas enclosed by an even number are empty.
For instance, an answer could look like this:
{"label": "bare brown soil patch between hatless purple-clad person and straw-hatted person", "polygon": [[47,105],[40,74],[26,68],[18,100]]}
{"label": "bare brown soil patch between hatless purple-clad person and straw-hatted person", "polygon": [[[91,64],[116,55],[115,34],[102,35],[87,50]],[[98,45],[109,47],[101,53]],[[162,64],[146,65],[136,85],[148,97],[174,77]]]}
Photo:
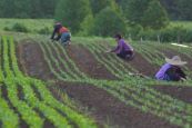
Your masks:
{"label": "bare brown soil patch between hatless purple-clad person and straw-hatted person", "polygon": [[142,55],[135,52],[133,60],[128,61],[131,67],[137,69],[140,73],[153,77],[158,71],[158,67],[151,65],[148,60],[145,60]]}

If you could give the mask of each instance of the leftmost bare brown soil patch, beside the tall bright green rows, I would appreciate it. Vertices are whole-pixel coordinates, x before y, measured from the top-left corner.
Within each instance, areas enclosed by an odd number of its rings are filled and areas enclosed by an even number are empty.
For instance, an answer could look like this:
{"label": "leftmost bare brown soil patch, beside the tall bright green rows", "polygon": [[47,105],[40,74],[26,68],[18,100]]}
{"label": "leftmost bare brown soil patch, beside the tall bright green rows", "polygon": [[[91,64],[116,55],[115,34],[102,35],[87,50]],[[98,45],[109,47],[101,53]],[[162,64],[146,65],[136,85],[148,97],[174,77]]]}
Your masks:
{"label": "leftmost bare brown soil patch, beside the tall bright green rows", "polygon": [[17,57],[20,69],[30,77],[46,79],[54,78],[44,60],[38,43],[28,40],[17,45]]}

